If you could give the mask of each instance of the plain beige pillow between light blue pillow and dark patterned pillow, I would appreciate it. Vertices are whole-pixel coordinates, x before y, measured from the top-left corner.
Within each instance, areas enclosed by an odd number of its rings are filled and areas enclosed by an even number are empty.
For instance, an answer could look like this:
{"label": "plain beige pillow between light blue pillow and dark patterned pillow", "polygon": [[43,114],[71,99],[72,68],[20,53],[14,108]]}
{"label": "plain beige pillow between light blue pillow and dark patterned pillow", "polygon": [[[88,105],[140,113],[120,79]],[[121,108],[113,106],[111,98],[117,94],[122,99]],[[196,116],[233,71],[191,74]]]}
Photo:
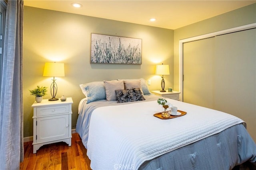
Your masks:
{"label": "plain beige pillow between light blue pillow and dark patterned pillow", "polygon": [[112,80],[112,81],[103,81],[106,89],[106,99],[107,101],[116,100],[115,90],[124,89],[124,81]]}

